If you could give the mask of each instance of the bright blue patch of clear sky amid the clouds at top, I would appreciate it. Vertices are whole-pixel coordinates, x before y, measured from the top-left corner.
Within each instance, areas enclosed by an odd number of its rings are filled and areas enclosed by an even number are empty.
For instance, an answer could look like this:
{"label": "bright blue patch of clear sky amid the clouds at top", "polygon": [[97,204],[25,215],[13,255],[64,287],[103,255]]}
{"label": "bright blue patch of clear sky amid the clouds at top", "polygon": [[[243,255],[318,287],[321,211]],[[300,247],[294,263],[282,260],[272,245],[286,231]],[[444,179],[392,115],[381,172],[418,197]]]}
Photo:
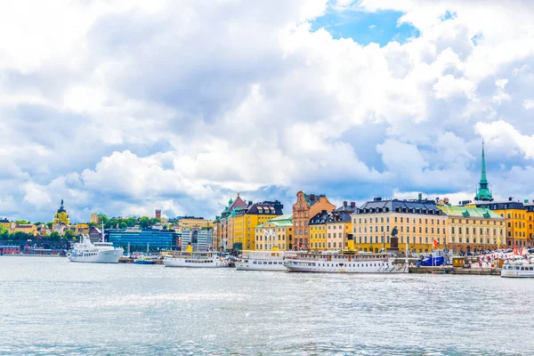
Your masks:
{"label": "bright blue patch of clear sky amid the clouds at top", "polygon": [[352,38],[363,45],[373,42],[384,46],[392,41],[403,44],[419,36],[419,31],[407,23],[397,26],[401,16],[402,12],[394,11],[338,12],[329,8],[324,16],[312,22],[312,29],[325,28],[336,39]]}

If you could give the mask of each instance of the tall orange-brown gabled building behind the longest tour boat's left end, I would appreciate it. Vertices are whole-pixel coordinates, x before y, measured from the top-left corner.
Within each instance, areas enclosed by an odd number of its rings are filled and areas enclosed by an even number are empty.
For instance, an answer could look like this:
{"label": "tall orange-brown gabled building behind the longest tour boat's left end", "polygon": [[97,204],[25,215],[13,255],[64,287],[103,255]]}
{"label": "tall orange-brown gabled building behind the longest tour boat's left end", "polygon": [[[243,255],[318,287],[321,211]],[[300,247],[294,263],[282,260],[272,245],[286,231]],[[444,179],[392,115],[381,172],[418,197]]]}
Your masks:
{"label": "tall orange-brown gabled building behind the longest tour boat's left end", "polygon": [[328,201],[324,194],[306,194],[302,190],[296,193],[296,202],[293,205],[293,249],[310,248],[310,231],[308,224],[312,216],[319,214],[322,210],[330,213],[336,206]]}

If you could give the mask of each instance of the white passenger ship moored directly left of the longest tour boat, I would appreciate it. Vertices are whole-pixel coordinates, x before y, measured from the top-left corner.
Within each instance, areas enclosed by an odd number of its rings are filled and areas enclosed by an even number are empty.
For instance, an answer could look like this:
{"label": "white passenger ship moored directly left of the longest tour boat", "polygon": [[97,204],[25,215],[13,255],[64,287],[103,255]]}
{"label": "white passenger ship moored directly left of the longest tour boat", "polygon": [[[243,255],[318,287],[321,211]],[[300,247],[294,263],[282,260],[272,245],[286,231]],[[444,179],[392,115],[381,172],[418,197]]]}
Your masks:
{"label": "white passenger ship moored directly left of the longest tour boat", "polygon": [[236,262],[238,271],[287,271],[285,258],[295,253],[286,251],[242,251]]}

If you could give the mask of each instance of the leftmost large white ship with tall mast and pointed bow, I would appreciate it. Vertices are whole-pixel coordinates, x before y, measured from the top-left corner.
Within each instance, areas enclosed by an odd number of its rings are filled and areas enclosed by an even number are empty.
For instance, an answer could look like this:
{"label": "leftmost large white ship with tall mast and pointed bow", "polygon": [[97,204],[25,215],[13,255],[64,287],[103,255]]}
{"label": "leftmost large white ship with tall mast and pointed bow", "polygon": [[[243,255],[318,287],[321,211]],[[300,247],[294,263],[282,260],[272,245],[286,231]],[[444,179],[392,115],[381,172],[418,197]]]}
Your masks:
{"label": "leftmost large white ship with tall mast and pointed bow", "polygon": [[118,259],[125,250],[121,247],[113,247],[111,242],[104,241],[104,230],[99,242],[91,242],[89,235],[83,235],[67,254],[70,262],[83,263],[118,263]]}

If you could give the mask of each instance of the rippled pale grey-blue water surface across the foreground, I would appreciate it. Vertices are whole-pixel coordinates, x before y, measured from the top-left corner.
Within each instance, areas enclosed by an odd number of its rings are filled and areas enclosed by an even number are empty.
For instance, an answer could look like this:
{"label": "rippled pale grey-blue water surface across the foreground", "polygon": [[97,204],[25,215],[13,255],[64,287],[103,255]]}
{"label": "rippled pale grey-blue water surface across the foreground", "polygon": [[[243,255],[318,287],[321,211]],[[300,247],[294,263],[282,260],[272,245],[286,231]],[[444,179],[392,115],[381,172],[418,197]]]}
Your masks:
{"label": "rippled pale grey-blue water surface across the foreground", "polygon": [[534,354],[534,279],[0,257],[0,354]]}

